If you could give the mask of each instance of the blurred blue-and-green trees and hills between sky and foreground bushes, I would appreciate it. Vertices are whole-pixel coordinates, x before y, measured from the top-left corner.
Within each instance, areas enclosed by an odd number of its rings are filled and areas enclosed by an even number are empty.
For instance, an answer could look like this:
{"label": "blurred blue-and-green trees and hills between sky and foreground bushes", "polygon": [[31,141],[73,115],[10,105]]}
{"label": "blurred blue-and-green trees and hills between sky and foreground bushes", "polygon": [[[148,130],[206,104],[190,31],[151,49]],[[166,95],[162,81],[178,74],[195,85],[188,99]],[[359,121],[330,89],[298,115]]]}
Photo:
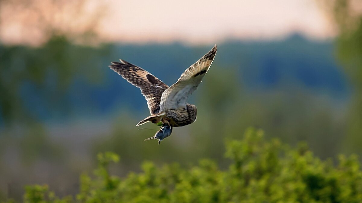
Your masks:
{"label": "blurred blue-and-green trees and hills between sky and foreground bushes", "polygon": [[108,68],[110,61],[125,59],[171,85],[213,44],[90,46],[58,32],[39,47],[1,44],[0,200],[19,199],[31,183],[75,194],[79,173],[102,151],[121,155],[121,175],[139,170],[144,160],[184,166],[207,157],[226,168],[224,141],[248,126],[292,146],[306,141],[322,159],[361,157],[362,18],[349,16],[348,2],[328,4],[341,33],[337,43],[295,34],[218,44],[190,101],[198,107],[197,121],[175,128],[160,146],[143,142],[156,126],[134,127],[149,113],[146,101]]}

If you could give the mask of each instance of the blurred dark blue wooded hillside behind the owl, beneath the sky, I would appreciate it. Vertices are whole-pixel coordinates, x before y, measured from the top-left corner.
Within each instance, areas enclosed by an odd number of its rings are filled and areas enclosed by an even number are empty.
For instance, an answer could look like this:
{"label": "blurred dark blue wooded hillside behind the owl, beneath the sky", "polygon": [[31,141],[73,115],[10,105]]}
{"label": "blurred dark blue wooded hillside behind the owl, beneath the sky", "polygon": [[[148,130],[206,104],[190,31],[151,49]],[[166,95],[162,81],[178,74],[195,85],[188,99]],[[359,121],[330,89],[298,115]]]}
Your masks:
{"label": "blurred dark blue wooded hillside behind the owl, beneath the sky", "polygon": [[[99,80],[89,83],[81,72],[76,74],[64,97],[57,101],[59,108],[49,107],[46,100],[41,99],[48,92],[39,92],[31,84],[25,86],[22,95],[30,111],[43,119],[107,116],[120,107],[148,113],[140,90],[110,70],[110,61],[124,59],[172,85],[212,46],[109,45],[109,55],[89,58],[90,62],[99,64],[94,73],[100,75]],[[218,44],[218,54],[210,71],[235,69],[240,74],[241,87],[246,90],[260,92],[296,86],[315,94],[322,92],[332,102],[340,101],[348,97],[349,87],[342,69],[336,64],[333,50],[332,42],[310,41],[299,35],[272,42],[229,41]]]}

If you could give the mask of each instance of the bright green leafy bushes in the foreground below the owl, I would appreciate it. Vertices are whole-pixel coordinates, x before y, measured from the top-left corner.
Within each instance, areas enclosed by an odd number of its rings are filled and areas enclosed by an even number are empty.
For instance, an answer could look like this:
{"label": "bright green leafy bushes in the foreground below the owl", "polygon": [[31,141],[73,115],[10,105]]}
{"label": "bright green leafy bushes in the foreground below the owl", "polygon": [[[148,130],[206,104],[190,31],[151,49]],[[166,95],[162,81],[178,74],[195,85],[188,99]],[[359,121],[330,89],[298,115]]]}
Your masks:
{"label": "bright green leafy bushes in the foreground below the owl", "polygon": [[[360,202],[362,171],[356,156],[340,156],[339,164],[323,161],[306,144],[291,149],[265,141],[261,130],[248,129],[243,139],[227,142],[226,170],[211,160],[190,168],[180,164],[142,164],[142,172],[111,176],[118,162],[112,152],[98,154],[95,177],[82,174],[77,202]],[[25,202],[71,202],[57,198],[47,186],[28,186]]]}

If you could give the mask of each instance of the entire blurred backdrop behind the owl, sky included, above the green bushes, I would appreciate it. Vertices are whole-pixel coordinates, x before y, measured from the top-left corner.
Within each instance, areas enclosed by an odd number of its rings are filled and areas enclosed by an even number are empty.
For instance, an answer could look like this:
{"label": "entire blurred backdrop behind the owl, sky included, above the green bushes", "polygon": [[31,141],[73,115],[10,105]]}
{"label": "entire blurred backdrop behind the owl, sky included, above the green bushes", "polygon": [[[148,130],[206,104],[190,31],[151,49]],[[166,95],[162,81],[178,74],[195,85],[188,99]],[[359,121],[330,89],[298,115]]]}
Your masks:
{"label": "entire blurred backdrop behind the owl, sky included, above the green bushes", "polygon": [[[157,126],[137,130],[146,100],[110,61],[172,85],[214,44],[197,121],[144,142]],[[249,126],[362,157],[361,1],[0,0],[0,200],[34,183],[75,194],[104,151],[120,175],[144,160],[226,166],[224,141]]]}

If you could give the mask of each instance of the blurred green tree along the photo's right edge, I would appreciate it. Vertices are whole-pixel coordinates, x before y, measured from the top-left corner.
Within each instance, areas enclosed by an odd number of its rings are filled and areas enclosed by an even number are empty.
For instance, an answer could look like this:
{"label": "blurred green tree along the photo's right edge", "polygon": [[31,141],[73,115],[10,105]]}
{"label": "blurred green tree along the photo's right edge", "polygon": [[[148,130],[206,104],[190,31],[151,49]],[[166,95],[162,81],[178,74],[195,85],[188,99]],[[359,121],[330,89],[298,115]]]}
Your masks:
{"label": "blurred green tree along the photo's right edge", "polygon": [[[323,1],[324,2],[324,1]],[[362,3],[355,0],[325,1],[324,8],[336,24],[337,56],[353,85],[349,104],[345,148],[362,153]]]}

